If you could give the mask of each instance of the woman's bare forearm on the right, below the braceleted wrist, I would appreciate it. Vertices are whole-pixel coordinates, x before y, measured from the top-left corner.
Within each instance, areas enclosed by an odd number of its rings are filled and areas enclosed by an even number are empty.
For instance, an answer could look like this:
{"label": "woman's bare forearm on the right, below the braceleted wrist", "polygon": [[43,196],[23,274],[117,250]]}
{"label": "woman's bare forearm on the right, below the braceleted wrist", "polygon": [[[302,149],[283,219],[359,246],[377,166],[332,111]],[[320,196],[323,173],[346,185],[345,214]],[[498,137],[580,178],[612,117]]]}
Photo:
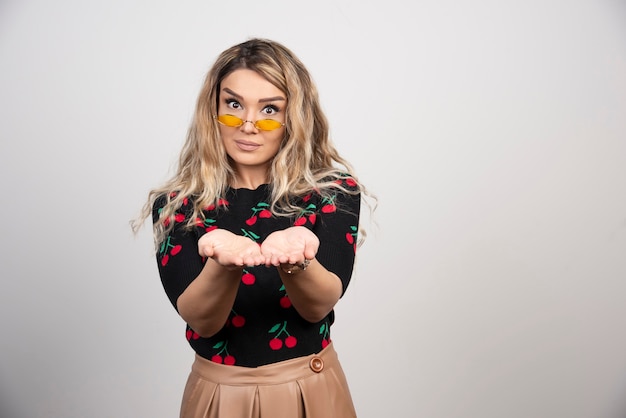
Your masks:
{"label": "woman's bare forearm on the right, below the braceleted wrist", "polygon": [[292,274],[277,269],[293,307],[309,322],[324,319],[341,297],[341,280],[316,259],[306,270]]}

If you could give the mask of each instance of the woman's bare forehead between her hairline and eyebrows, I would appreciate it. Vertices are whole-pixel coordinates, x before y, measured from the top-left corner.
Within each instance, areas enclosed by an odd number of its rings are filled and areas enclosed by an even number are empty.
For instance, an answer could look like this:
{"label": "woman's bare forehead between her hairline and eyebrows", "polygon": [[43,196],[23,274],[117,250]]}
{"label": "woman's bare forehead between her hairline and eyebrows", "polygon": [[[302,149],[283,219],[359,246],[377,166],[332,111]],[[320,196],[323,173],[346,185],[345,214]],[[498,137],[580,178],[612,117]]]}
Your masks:
{"label": "woman's bare forehead between her hairline and eyebrows", "polygon": [[248,101],[258,101],[268,97],[285,97],[285,94],[275,85],[270,83],[265,77],[256,71],[249,69],[238,69],[228,74],[221,82],[220,94],[224,94],[227,89],[240,99]]}

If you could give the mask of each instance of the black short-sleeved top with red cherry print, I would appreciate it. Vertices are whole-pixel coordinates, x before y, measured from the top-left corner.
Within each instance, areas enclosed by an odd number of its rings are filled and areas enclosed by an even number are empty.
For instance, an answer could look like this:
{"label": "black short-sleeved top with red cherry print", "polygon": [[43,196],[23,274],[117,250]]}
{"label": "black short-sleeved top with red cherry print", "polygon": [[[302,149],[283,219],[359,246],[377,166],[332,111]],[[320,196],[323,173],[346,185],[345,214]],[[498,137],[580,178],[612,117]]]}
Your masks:
{"label": "black short-sleeved top with red cherry print", "polygon": [[[351,179],[344,184],[350,187]],[[337,190],[330,199],[318,194],[306,196],[299,200],[300,214],[292,218],[273,216],[268,200],[268,185],[256,190],[229,189],[218,207],[204,210],[205,220],[198,219],[194,230],[182,227],[191,214],[191,203],[185,200],[156,256],[161,282],[175,308],[176,300],[206,261],[198,254],[198,239],[215,228],[262,243],[274,231],[304,226],[319,238],[317,260],[341,279],[345,292],[354,266],[360,195]],[[163,199],[155,202],[154,222],[162,205]],[[319,352],[330,342],[333,322],[333,311],[317,323],[303,319],[291,305],[276,267],[263,265],[243,270],[230,316],[218,333],[202,338],[187,325],[186,338],[204,358],[257,367]]]}

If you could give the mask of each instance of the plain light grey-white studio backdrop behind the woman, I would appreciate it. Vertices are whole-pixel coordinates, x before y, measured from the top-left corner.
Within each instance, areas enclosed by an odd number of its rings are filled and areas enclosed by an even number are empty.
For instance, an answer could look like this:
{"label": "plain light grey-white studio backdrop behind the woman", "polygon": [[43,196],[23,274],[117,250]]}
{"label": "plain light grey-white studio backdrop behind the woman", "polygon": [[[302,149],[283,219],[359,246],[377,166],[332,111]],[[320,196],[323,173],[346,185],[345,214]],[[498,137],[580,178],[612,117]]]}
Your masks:
{"label": "plain light grey-white studio backdrop behind the woman", "polygon": [[0,416],[177,416],[128,221],[251,36],[380,199],[333,331],[359,416],[626,416],[622,0],[0,1]]}

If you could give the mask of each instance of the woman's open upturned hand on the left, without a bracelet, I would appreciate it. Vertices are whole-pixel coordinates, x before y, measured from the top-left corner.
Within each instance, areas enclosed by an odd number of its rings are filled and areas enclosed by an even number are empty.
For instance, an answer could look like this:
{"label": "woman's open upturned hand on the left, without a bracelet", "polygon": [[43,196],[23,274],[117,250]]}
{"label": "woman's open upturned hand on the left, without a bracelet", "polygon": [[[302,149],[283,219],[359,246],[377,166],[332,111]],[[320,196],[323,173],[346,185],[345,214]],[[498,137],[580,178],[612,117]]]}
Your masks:
{"label": "woman's open upturned hand on the left, without a bracelet", "polygon": [[265,263],[259,244],[225,229],[214,229],[200,237],[198,252],[228,269]]}

